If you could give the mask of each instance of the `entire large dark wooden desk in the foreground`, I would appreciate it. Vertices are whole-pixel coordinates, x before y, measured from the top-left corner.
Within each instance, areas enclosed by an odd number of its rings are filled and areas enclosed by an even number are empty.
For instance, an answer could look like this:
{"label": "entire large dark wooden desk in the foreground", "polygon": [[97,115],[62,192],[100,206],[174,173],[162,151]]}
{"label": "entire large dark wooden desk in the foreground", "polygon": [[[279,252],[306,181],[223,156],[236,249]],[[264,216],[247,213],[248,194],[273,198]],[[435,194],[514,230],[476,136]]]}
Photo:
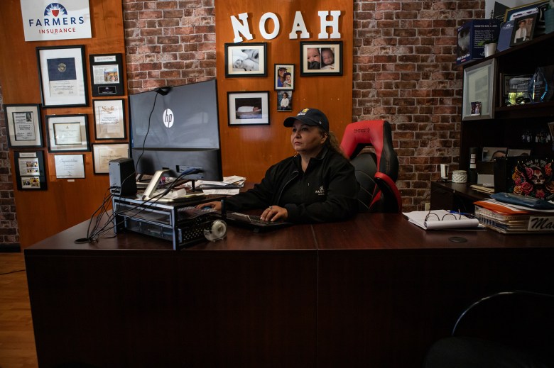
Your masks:
{"label": "entire large dark wooden desk in the foreground", "polygon": [[396,214],[229,228],[181,251],[133,233],[74,244],[85,228],[25,250],[40,367],[420,367],[472,301],[554,291],[551,236]]}

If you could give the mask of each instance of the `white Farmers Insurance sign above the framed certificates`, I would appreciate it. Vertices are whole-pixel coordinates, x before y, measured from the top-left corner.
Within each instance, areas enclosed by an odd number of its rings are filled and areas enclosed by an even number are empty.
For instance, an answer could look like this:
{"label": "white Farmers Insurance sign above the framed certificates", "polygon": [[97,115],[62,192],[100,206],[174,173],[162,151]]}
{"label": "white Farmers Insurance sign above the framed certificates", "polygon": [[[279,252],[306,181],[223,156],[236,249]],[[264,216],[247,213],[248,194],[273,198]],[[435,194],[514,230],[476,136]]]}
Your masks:
{"label": "white Farmers Insurance sign above the framed certificates", "polygon": [[26,41],[91,38],[89,0],[21,0]]}

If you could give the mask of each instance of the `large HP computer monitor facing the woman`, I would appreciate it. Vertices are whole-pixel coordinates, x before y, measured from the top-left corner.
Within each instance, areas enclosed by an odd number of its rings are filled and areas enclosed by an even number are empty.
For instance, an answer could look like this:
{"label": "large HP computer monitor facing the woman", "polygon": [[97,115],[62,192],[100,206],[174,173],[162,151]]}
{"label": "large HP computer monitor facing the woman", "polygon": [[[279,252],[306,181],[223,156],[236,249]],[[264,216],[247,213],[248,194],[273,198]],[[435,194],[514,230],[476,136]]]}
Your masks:
{"label": "large HP computer monitor facing the woman", "polygon": [[137,174],[222,181],[215,79],[131,94],[129,110]]}

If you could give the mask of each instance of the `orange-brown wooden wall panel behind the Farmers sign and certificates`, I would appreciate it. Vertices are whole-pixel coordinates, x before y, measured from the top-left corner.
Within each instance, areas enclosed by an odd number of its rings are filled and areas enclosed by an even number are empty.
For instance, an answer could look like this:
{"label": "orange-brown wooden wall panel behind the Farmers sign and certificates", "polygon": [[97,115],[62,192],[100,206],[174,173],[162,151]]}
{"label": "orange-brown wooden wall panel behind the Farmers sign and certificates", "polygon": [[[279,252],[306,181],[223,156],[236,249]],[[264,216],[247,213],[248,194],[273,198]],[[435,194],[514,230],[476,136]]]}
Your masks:
{"label": "orange-brown wooden wall panel behind the Farmers sign and certificates", "polygon": [[[36,48],[56,45],[85,45],[85,73],[88,79],[89,106],[80,108],[44,108],[42,150],[45,152],[45,170],[48,190],[13,191],[16,201],[16,216],[21,247],[58,233],[65,228],[87,220],[102,204],[109,187],[107,174],[94,174],[92,152],[85,155],[85,179],[56,179],[53,154],[48,153],[45,115],[85,113],[89,121],[89,140],[94,143],[94,115],[90,95],[88,55],[101,53],[121,53],[125,55],[123,14],[120,1],[89,0],[92,18],[92,38],[79,40],[33,41],[26,42],[21,26],[21,5],[19,0],[0,2],[0,81],[4,104],[39,104],[40,85]],[[7,16],[9,14],[9,16]],[[125,58],[124,58],[125,59]],[[125,60],[123,61],[123,75]],[[126,83],[125,83],[126,84]],[[126,89],[125,89],[126,95]],[[126,100],[126,96],[117,98]],[[114,97],[112,97],[114,98]],[[96,98],[95,98],[96,99]],[[100,98],[97,98],[100,99]],[[129,124],[126,124],[127,128]],[[129,136],[129,135],[127,135]],[[112,141],[102,141],[110,143]],[[115,142],[115,141],[114,141]],[[119,143],[122,141],[119,140]],[[29,151],[21,149],[21,151]],[[13,150],[10,150],[11,167],[14,167]],[[12,174],[14,170],[12,169]],[[13,187],[16,177],[13,174]],[[86,234],[82,235],[83,237]]]}

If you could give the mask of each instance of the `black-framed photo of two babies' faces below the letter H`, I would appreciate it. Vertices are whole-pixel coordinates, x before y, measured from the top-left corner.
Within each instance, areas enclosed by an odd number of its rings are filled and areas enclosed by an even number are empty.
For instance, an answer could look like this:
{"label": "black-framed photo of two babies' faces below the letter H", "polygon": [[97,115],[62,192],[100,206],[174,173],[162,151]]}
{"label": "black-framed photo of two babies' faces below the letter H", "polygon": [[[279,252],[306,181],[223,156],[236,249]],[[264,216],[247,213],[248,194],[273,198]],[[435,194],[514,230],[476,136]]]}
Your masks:
{"label": "black-framed photo of two babies' faces below the letter H", "polygon": [[300,76],[317,75],[342,75],[342,41],[300,43]]}

